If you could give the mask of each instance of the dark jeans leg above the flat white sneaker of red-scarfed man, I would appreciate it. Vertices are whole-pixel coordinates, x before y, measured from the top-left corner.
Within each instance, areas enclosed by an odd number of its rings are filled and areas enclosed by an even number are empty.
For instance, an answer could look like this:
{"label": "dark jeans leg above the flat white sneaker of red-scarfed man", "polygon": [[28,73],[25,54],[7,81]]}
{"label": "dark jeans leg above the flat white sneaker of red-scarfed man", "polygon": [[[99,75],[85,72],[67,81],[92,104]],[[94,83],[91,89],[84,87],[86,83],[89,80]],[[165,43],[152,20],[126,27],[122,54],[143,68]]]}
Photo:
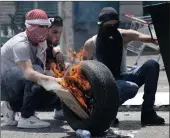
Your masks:
{"label": "dark jeans leg above the flat white sneaker of red-scarfed man", "polygon": [[[34,65],[33,69],[45,74],[42,68]],[[24,101],[21,108],[21,116],[29,118],[34,115],[35,110],[43,110],[47,108],[55,108],[61,106],[59,98],[53,92],[46,91],[41,85],[32,81],[26,81],[24,89]]]}

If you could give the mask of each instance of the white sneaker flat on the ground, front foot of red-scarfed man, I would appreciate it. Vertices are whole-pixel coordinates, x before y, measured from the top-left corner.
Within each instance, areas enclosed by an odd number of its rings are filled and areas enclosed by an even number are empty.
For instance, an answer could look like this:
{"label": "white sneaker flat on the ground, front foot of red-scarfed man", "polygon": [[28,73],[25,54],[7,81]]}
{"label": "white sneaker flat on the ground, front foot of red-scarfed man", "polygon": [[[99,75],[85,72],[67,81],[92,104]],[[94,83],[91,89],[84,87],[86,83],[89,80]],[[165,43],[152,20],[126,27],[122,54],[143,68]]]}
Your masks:
{"label": "white sneaker flat on the ground, front foot of red-scarfed man", "polygon": [[18,120],[18,128],[47,128],[50,127],[50,123],[40,120],[36,116],[29,118],[20,117]]}

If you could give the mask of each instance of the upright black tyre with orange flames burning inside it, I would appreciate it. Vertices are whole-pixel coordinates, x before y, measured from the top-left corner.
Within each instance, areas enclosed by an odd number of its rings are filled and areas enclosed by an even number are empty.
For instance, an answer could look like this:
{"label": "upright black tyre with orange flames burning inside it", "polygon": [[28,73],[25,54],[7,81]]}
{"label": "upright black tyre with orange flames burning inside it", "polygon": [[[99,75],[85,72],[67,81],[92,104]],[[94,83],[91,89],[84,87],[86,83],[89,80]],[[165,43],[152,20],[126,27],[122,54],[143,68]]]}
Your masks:
{"label": "upright black tyre with orange flames burning inside it", "polygon": [[119,95],[114,77],[104,64],[88,60],[73,65],[66,71],[62,86],[86,113],[81,117],[79,108],[70,108],[63,102],[64,116],[72,129],[86,129],[92,135],[100,135],[110,127],[117,115]]}

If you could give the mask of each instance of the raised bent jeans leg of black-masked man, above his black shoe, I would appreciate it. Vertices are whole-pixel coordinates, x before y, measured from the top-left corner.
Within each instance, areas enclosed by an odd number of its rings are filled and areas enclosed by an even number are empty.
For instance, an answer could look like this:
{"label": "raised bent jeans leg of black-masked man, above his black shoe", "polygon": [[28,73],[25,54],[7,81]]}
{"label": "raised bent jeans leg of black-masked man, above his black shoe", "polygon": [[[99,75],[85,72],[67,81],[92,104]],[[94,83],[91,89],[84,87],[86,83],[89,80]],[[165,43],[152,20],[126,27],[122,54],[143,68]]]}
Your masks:
{"label": "raised bent jeans leg of black-masked man, above his black shoe", "polygon": [[143,110],[152,110],[159,77],[159,64],[155,60],[148,60],[131,73],[124,75],[124,80],[136,83],[139,87],[144,84]]}

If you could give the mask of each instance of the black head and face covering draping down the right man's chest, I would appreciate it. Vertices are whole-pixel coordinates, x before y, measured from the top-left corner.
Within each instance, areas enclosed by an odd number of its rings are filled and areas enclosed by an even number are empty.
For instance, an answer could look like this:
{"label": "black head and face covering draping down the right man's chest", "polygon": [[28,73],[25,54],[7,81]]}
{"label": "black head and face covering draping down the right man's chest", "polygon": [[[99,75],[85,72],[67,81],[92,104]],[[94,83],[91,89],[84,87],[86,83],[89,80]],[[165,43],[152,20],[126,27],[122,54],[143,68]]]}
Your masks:
{"label": "black head and face covering draping down the right man's chest", "polygon": [[[118,20],[117,24],[103,25],[110,20]],[[115,79],[120,77],[123,39],[118,31],[119,15],[112,7],[105,7],[99,14],[99,31],[96,41],[96,58],[105,64]]]}

